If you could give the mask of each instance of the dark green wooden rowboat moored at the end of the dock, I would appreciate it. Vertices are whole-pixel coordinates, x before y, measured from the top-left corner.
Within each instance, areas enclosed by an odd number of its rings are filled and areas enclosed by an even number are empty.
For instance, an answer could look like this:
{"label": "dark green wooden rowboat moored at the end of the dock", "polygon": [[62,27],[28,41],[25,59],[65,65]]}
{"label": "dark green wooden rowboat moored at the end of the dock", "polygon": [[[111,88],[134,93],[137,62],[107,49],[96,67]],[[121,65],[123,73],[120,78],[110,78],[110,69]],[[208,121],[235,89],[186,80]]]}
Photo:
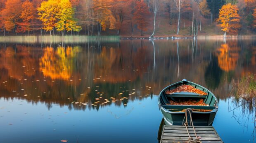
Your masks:
{"label": "dark green wooden rowboat moored at the end of the dock", "polygon": [[[182,85],[191,85],[197,91],[203,91],[204,94],[193,92],[173,92]],[[191,87],[190,86],[190,87]],[[198,90],[199,89],[199,90]],[[168,94],[169,93],[169,94]],[[179,101],[199,101],[204,102],[204,105],[177,105]],[[191,109],[192,122],[195,126],[211,126],[218,110],[217,98],[205,87],[199,84],[182,80],[180,82],[169,85],[164,88],[158,98],[159,109],[164,117],[166,125],[183,125],[185,119],[185,109]],[[190,116],[189,114],[187,114]],[[187,122],[191,122],[191,117],[187,117]]]}

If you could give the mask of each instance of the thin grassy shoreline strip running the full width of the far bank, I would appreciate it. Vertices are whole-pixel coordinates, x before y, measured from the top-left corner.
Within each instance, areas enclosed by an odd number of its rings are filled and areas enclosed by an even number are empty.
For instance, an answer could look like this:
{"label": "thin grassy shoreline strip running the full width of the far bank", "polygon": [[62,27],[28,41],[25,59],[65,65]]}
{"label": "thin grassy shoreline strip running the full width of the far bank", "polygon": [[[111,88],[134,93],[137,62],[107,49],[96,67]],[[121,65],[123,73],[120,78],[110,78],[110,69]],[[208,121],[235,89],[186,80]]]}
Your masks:
{"label": "thin grassy shoreline strip running the full width of the far bank", "polygon": [[176,40],[176,39],[197,39],[197,40],[254,40],[256,35],[227,35],[224,39],[223,35],[198,35],[192,36],[180,36],[180,37],[168,37],[157,36],[153,38],[149,37],[126,37],[126,36],[86,36],[86,35],[66,35],[66,36],[50,36],[50,35],[20,35],[20,36],[0,36],[0,42],[16,42],[16,43],[85,43],[91,41],[101,42],[118,42],[119,40]]}

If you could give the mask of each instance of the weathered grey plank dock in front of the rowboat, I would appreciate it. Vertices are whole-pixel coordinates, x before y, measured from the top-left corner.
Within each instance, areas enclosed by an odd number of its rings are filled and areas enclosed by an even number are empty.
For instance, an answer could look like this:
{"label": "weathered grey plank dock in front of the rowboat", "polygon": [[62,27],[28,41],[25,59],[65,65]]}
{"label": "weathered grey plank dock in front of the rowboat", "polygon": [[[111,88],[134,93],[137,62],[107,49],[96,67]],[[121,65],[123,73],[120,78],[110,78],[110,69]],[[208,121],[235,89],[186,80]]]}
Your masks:
{"label": "weathered grey plank dock in front of the rowboat", "polygon": [[[202,143],[223,143],[212,126],[194,126],[196,134]],[[192,126],[187,126],[190,136],[196,139]],[[186,143],[188,134],[185,126],[164,125],[160,143]]]}

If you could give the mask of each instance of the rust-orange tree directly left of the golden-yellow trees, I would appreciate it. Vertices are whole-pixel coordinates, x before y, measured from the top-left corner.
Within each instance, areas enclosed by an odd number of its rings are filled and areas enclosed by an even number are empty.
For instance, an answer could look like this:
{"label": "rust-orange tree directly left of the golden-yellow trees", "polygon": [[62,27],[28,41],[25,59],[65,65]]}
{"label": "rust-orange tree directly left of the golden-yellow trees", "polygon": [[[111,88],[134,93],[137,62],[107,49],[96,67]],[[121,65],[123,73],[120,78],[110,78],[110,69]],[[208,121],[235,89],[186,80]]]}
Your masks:
{"label": "rust-orange tree directly left of the golden-yellow trees", "polygon": [[17,32],[31,31],[33,22],[36,19],[36,8],[33,3],[26,0],[21,5],[22,11],[19,16],[21,21],[18,23]]}

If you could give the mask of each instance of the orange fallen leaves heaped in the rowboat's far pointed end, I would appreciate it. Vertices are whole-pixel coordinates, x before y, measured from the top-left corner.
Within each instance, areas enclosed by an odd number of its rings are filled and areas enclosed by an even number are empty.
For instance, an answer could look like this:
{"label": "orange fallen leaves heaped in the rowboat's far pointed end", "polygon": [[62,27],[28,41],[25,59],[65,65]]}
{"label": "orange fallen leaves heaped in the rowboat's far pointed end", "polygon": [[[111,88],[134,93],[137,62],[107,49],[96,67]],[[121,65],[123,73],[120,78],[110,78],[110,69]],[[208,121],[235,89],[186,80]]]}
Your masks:
{"label": "orange fallen leaves heaped in the rowboat's far pointed end", "polygon": [[193,93],[197,93],[200,95],[207,95],[204,91],[201,91],[199,89],[194,88],[191,85],[186,85],[186,84],[183,84],[183,85],[177,87],[176,89],[165,91],[166,94],[173,94],[176,92],[193,92]]}

